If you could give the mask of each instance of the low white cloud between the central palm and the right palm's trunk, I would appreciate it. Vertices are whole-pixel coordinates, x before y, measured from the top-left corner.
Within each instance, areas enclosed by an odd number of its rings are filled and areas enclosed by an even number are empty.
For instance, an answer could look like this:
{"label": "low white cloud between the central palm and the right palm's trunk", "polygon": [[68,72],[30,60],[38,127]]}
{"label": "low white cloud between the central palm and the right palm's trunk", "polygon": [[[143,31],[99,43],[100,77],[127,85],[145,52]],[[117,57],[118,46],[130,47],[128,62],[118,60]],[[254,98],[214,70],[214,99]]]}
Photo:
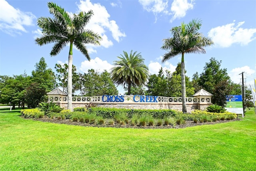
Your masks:
{"label": "low white cloud between the central palm and the right palm's trunk", "polygon": [[176,69],[176,66],[173,66],[170,63],[165,63],[164,66],[162,66],[159,62],[150,62],[150,64],[148,64],[148,70],[150,74],[158,74],[161,67],[163,68],[164,74],[166,70],[172,73]]}

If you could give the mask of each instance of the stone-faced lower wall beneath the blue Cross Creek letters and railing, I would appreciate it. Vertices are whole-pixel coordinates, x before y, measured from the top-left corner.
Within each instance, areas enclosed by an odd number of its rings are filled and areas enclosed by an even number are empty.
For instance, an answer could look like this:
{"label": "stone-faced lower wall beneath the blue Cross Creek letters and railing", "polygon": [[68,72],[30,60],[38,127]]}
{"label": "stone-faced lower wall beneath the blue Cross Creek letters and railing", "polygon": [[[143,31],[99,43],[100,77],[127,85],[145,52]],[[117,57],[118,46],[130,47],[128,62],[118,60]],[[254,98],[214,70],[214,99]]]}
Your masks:
{"label": "stone-faced lower wall beneath the blue Cross Creek letters and railing", "polygon": [[[61,103],[57,101],[56,104],[60,105],[60,107],[64,107],[65,109],[68,108],[67,103]],[[86,104],[91,104],[92,106],[99,106],[99,107],[109,107],[109,108],[124,108],[124,109],[174,109],[182,111],[182,104],[181,103],[99,103],[99,102],[84,102],[84,103],[76,103],[72,102],[73,109],[76,107],[84,107]],[[187,112],[191,113],[191,111],[195,109],[204,110],[207,106],[211,105],[212,103],[186,103]]]}

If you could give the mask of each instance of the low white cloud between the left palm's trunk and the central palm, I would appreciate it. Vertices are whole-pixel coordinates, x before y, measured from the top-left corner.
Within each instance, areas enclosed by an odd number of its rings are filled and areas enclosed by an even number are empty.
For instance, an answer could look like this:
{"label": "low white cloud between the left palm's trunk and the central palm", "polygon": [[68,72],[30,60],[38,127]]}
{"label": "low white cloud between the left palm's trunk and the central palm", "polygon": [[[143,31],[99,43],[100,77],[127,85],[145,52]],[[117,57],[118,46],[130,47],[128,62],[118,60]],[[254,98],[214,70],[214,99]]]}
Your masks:
{"label": "low white cloud between the left palm's trunk and the central palm", "polygon": [[110,69],[112,67],[113,66],[107,61],[102,61],[100,58],[96,57],[95,59],[91,59],[90,61],[85,60],[84,62],[82,62],[80,70],[84,73],[87,73],[90,69],[94,69],[98,72],[104,72],[104,70],[110,72]]}

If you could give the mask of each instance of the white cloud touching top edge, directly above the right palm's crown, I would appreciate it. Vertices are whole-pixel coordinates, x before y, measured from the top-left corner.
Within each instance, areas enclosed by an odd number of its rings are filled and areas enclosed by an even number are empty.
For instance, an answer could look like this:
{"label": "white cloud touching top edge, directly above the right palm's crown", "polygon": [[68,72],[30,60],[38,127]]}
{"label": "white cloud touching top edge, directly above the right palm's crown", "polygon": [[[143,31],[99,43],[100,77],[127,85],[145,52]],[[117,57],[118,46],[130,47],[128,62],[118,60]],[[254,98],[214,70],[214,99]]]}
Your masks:
{"label": "white cloud touching top edge, directly above the right palm's crown", "polygon": [[176,18],[179,19],[186,16],[186,11],[193,9],[193,1],[194,0],[191,0],[189,3],[188,0],[174,0],[171,6],[171,11],[173,14],[171,22]]}

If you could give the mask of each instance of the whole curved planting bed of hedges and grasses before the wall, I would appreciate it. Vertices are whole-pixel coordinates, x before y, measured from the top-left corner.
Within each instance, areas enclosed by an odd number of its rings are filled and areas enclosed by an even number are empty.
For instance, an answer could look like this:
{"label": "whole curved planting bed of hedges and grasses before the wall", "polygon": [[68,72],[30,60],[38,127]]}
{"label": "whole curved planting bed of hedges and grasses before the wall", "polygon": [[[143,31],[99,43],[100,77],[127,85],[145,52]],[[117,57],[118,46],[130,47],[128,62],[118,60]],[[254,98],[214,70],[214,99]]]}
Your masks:
{"label": "whole curved planting bed of hedges and grasses before the wall", "polygon": [[[48,106],[48,108],[47,108]],[[71,119],[73,122],[97,125],[132,125],[132,126],[162,126],[184,124],[186,121],[211,122],[217,120],[231,120],[237,117],[235,113],[224,111],[222,113],[194,110],[191,113],[182,113],[172,109],[146,110],[146,109],[116,109],[104,107],[74,108],[74,111],[62,109],[55,104],[41,104],[38,109],[23,109],[24,117],[42,117],[46,115],[51,119]]]}

